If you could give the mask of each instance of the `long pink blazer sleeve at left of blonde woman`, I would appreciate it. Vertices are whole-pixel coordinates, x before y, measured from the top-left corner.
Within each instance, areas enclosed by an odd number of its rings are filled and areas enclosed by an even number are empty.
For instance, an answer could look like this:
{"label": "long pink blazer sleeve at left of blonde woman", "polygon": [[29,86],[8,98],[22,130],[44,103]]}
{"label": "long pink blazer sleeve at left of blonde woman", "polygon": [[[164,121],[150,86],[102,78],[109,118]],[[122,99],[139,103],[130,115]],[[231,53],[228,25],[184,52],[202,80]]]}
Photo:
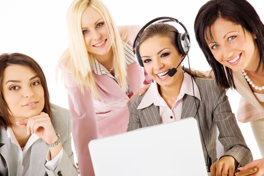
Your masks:
{"label": "long pink blazer sleeve at left of blonde woman", "polygon": [[72,115],[72,137],[77,155],[77,165],[81,175],[94,175],[88,144],[98,138],[96,113],[90,91],[84,94],[74,84],[69,72],[64,73],[65,87],[68,93],[68,105]]}

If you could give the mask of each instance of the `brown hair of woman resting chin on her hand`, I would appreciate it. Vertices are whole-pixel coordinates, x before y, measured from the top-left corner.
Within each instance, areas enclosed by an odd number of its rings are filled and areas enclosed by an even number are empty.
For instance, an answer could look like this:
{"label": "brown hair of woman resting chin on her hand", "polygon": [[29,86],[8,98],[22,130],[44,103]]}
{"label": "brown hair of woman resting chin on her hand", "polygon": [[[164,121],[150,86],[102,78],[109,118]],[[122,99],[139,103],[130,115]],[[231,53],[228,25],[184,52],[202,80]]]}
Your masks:
{"label": "brown hair of woman resting chin on her hand", "polygon": [[10,116],[9,112],[11,112],[11,111],[10,111],[10,109],[9,109],[5,99],[4,99],[4,95],[3,95],[4,70],[6,67],[8,67],[10,65],[28,66],[37,74],[37,76],[40,78],[40,82],[41,82],[41,85],[42,85],[43,90],[44,90],[45,104],[44,104],[44,108],[42,111],[47,113],[49,115],[49,117],[52,118],[50,103],[49,103],[49,92],[48,92],[47,81],[46,81],[45,75],[44,75],[41,67],[39,66],[39,64],[34,59],[32,59],[31,57],[29,57],[25,54],[4,53],[4,54],[0,55],[0,97],[1,97],[0,98],[0,127],[4,127],[5,129],[7,129],[7,127],[10,127],[12,125],[11,121],[9,119],[9,116]]}

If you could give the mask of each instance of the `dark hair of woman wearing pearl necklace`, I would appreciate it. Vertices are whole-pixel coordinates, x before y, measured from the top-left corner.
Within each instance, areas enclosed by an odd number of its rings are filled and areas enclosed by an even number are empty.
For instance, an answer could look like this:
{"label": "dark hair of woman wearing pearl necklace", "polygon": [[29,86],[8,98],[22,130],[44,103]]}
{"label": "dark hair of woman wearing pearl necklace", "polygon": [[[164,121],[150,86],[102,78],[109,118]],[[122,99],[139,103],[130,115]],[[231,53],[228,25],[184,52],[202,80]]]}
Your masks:
{"label": "dark hair of woman wearing pearl necklace", "polygon": [[254,8],[245,0],[211,0],[200,8],[196,16],[195,37],[214,71],[217,83],[224,89],[235,88],[232,70],[215,59],[206,43],[207,38],[212,38],[210,27],[219,18],[241,25],[244,30],[256,36],[255,41],[260,55],[256,72],[261,65],[262,70],[264,68],[264,25]]}

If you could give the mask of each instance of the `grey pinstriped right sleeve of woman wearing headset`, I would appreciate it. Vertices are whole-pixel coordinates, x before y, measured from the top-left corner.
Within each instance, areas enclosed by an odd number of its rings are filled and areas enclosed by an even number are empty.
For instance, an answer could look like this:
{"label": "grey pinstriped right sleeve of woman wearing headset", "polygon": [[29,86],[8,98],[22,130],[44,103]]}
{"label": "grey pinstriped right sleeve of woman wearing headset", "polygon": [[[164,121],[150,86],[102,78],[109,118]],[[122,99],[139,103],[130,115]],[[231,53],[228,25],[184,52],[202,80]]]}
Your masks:
{"label": "grey pinstriped right sleeve of woman wearing headset", "polygon": [[[229,105],[225,90],[217,86],[214,91],[214,121],[219,130],[218,140],[224,146],[223,156],[233,156],[240,165],[252,161],[252,153],[247,147]],[[222,156],[222,157],[223,157]]]}

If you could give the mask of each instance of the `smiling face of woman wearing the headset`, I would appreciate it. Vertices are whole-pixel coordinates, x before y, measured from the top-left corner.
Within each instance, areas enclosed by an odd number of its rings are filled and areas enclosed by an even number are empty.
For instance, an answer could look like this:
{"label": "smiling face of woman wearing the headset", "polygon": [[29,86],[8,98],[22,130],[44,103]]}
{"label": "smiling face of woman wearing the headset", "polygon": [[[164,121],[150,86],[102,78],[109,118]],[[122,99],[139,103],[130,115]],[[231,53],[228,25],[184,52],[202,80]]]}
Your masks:
{"label": "smiling face of woman wearing the headset", "polygon": [[168,70],[177,67],[184,57],[169,37],[155,35],[146,39],[139,47],[139,54],[147,74],[160,86],[170,86],[181,77],[181,67],[174,76],[169,77],[167,74]]}

